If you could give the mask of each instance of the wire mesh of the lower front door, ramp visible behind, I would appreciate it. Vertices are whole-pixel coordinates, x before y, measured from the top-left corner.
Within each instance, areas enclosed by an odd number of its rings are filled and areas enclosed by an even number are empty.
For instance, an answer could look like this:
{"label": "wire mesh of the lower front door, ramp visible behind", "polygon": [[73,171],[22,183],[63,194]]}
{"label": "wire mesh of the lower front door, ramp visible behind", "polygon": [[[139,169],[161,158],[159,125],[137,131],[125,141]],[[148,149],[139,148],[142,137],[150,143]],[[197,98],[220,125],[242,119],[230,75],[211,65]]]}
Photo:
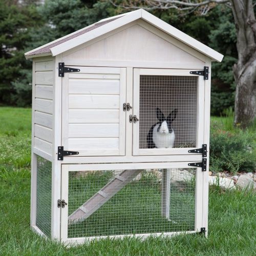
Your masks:
{"label": "wire mesh of the lower front door, ramp visible behind", "polygon": [[68,237],[195,230],[196,169],[69,172]]}

